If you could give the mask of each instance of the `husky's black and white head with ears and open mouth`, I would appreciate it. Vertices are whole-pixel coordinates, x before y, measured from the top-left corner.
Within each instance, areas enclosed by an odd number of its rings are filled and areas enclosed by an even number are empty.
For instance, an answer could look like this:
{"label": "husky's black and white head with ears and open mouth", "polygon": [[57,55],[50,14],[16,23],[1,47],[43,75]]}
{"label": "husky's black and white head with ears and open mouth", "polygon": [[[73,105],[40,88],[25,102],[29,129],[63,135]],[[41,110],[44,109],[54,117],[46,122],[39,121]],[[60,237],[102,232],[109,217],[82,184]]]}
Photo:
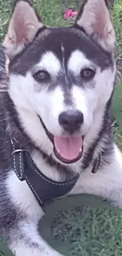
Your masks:
{"label": "husky's black and white head with ears and open mouth", "polygon": [[[71,164],[83,156],[113,92],[115,35],[104,0],[89,0],[70,28],[46,28],[17,1],[3,45],[9,95],[38,147]],[[95,135],[93,129],[95,128]]]}

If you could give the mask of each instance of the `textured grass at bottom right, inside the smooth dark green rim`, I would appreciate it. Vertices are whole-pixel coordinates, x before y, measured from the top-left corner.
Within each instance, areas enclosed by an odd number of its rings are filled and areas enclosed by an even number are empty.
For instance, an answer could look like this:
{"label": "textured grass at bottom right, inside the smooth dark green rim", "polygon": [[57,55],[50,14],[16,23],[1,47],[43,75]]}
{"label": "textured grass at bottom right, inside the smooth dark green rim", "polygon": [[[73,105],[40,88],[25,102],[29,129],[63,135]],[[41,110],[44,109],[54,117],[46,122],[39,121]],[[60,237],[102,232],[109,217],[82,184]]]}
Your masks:
{"label": "textured grass at bottom right, inside the smooth dark green rim", "polygon": [[54,239],[72,245],[70,256],[121,256],[121,231],[122,213],[82,206],[58,213],[52,224]]}

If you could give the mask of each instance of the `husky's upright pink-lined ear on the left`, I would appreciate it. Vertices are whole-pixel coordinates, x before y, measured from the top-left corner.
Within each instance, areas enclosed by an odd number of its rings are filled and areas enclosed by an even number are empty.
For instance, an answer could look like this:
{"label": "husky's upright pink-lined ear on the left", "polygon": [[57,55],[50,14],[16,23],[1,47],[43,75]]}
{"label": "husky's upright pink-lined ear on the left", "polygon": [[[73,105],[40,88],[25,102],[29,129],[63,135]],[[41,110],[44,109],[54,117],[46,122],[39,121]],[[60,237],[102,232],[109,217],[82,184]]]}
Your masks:
{"label": "husky's upright pink-lined ear on the left", "polygon": [[39,28],[44,25],[39,20],[35,9],[32,8],[28,0],[17,0],[13,9],[13,17],[10,20],[8,32],[4,39],[6,54],[9,58],[13,58],[16,54],[31,42]]}

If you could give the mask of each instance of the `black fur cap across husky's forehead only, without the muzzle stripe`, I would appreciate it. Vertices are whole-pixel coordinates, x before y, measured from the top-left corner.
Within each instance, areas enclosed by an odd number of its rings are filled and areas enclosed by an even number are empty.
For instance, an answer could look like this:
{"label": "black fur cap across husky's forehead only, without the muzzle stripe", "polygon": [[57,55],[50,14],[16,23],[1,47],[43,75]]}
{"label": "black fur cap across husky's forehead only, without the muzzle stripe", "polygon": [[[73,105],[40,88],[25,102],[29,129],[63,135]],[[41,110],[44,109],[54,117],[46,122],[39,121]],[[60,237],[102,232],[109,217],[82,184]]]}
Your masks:
{"label": "black fur cap across husky's forehead only, without the muzzle stripe", "polygon": [[[72,51],[80,50],[102,70],[113,65],[111,54],[102,50],[97,43],[83,32],[79,32],[75,28],[48,29],[50,30],[50,35],[48,33],[44,36],[43,33],[39,34],[33,43],[28,44],[28,47],[21,54],[13,58],[9,65],[10,72],[25,76],[26,72],[31,70],[41,60],[42,55],[49,50],[62,61],[61,45],[65,47],[66,63]],[[29,54],[30,52],[31,54]]]}

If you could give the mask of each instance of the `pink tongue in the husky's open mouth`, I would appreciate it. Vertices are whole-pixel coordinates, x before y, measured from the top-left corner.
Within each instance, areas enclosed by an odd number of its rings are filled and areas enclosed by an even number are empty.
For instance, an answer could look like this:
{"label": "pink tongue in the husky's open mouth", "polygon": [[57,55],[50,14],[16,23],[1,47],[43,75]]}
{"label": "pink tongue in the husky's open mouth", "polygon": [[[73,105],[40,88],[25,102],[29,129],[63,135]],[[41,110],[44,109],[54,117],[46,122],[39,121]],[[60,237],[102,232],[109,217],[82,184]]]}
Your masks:
{"label": "pink tongue in the husky's open mouth", "polygon": [[78,158],[82,150],[83,139],[82,137],[57,137],[54,136],[54,147],[61,158],[73,160]]}

